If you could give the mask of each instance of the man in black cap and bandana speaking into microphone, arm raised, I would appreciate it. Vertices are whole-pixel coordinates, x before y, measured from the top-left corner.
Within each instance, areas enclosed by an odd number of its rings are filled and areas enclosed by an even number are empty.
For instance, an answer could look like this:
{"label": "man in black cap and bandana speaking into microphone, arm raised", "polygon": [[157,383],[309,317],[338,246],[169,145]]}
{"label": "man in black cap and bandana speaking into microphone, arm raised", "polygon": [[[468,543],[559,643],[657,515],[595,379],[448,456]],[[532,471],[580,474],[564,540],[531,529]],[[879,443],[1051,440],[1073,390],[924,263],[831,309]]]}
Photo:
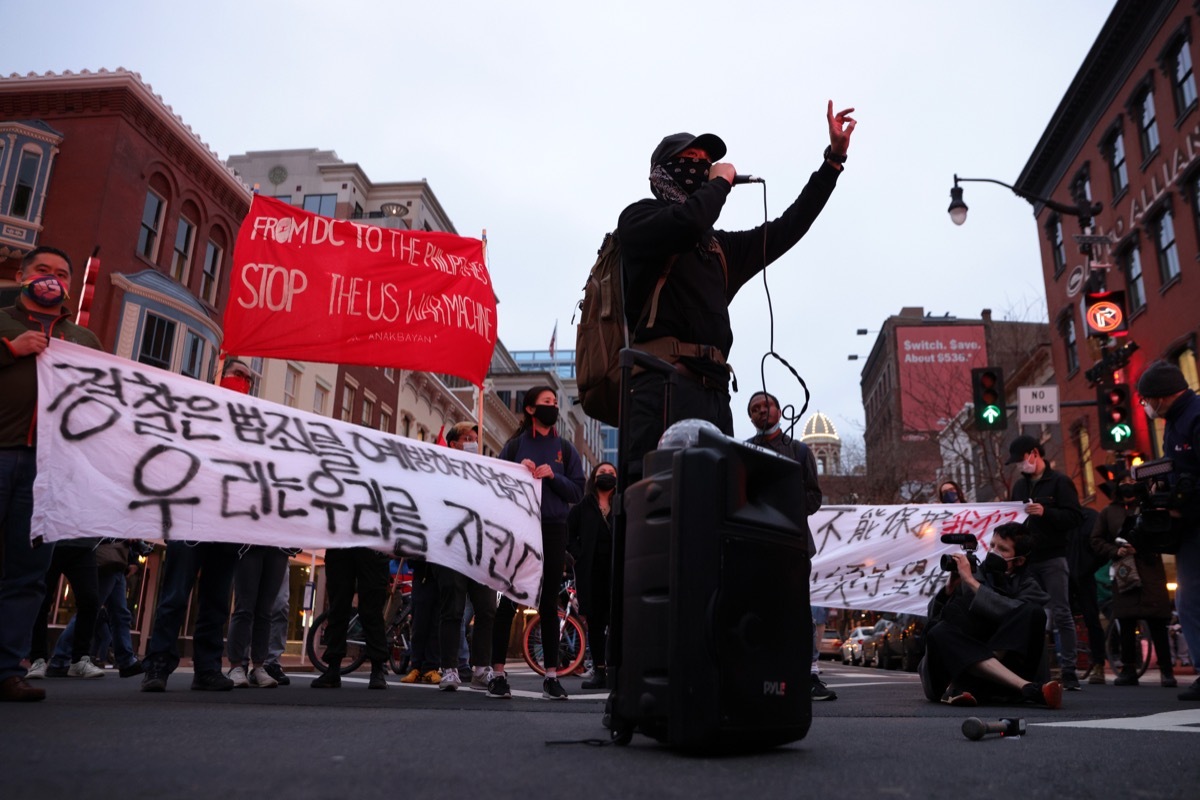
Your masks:
{"label": "man in black cap and bandana speaking into microphone, arm raised", "polygon": [[733,164],[721,162],[726,148],[719,137],[676,133],[654,149],[649,175],[654,198],[626,207],[617,227],[625,315],[634,347],[674,365],[682,380],[665,414],[665,378],[635,371],[624,463],[640,464],[658,446],[665,425],[676,420],[707,420],[733,434],[726,363],[733,344],[730,302],[746,281],[791,249],[821,213],[846,161],[853,110],[834,114],[829,102],[829,146],[821,167],[779,218],[752,230],[713,228],[736,178]]}

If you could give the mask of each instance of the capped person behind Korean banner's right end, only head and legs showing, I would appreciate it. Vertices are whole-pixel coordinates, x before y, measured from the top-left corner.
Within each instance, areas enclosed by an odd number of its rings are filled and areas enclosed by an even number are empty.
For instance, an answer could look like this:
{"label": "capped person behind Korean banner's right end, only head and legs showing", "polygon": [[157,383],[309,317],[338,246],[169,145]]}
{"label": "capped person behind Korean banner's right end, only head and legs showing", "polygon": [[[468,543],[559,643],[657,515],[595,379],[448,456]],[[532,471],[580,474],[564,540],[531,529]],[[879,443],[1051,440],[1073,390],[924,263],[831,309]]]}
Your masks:
{"label": "capped person behind Korean banner's right end, only head and legs showing", "polygon": [[[450,431],[446,444],[463,452],[479,451],[479,428],[474,422],[460,422]],[[468,447],[472,445],[472,447]],[[492,627],[496,619],[496,591],[462,572],[448,566],[437,567],[438,576],[438,644],[442,674],[438,682],[443,691],[455,691],[462,682],[458,674],[458,643],[462,637],[467,599],[475,612],[475,631],[470,637],[470,687],[487,690],[492,681]]]}

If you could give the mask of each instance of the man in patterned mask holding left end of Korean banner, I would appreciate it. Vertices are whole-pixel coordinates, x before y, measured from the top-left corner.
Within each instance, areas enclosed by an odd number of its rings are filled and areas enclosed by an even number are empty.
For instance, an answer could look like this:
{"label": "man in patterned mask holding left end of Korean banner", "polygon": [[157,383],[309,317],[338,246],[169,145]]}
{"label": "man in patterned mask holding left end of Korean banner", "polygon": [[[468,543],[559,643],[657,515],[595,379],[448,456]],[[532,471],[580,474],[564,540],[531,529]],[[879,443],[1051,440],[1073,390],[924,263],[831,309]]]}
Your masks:
{"label": "man in patterned mask holding left end of Korean banner", "polygon": [[0,309],[0,700],[41,700],[46,692],[25,682],[20,666],[29,655],[46,593],[54,547],[30,541],[34,480],[37,473],[35,420],[37,356],[50,339],[100,350],[100,339],[71,321],[65,308],[71,258],[53,247],[35,247],[16,275],[20,296]]}

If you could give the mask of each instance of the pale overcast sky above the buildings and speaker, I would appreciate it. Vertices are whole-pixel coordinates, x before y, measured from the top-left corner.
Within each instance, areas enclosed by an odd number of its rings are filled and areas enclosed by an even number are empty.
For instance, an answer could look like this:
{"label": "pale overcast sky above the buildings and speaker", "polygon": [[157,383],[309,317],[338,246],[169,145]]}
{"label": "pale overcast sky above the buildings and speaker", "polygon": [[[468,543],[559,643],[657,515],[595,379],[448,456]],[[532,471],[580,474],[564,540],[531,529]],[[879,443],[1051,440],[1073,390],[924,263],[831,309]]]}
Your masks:
{"label": "pale overcast sky above the buildings and speaker", "polygon": [[[8,4],[0,72],[126,67],[222,158],[319,148],[374,181],[427,179],[462,235],[488,234],[509,349],[574,348],[595,249],[648,196],[668,133],[714,132],[781,212],[821,163],[826,101],[858,130],[838,190],[767,272],[775,350],[811,410],[860,437],[863,361],[902,306],[1045,319],[1038,227],[1012,184],[1108,17],[1110,0],[950,2]],[[1060,198],[1066,199],[1066,198]],[[737,187],[719,227],[750,228]],[[739,435],[770,342],[762,281],[732,307]],[[856,329],[871,331],[856,336]],[[768,387],[799,405],[782,367]]]}

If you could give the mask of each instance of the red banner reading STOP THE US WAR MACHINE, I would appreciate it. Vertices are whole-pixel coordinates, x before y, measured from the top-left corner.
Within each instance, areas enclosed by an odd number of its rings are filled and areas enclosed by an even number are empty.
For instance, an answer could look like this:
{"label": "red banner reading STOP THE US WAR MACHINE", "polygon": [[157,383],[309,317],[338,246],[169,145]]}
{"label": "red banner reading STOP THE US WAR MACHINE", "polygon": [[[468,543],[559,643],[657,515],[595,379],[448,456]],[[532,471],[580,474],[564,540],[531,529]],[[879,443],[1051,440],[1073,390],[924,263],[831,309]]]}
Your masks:
{"label": "red banner reading STOP THE US WAR MACHINE", "polygon": [[257,194],[233,252],[222,347],[480,385],[496,348],[484,243],[330,219]]}

